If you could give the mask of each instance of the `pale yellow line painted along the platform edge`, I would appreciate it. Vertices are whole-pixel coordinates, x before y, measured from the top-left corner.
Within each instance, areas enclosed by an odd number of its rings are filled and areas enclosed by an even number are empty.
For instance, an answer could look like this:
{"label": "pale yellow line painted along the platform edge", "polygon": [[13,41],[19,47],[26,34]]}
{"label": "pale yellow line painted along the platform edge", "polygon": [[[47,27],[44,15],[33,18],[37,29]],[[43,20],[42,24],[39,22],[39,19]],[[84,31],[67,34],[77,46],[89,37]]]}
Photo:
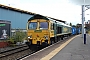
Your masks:
{"label": "pale yellow line painted along the platform edge", "polygon": [[[77,35],[77,36],[79,36],[79,35]],[[50,60],[52,57],[54,57],[59,51],[61,51],[70,41],[72,41],[77,36],[69,39],[64,44],[60,45],[58,48],[56,48],[55,50],[53,50],[52,52],[50,52],[48,55],[46,55],[45,57],[41,58],[40,60]]]}

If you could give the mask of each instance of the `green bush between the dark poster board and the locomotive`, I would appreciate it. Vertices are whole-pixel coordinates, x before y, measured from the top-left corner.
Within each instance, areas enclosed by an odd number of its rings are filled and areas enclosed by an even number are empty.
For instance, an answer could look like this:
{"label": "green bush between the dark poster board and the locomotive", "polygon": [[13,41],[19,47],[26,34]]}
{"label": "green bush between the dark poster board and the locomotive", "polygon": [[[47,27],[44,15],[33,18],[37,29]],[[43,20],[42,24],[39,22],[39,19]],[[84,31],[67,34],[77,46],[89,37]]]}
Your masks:
{"label": "green bush between the dark poster board and the locomotive", "polygon": [[22,42],[23,40],[25,40],[27,37],[26,32],[23,32],[22,30],[17,30],[15,32],[15,34],[11,37],[8,37],[7,40],[5,40],[6,42],[9,43],[9,45],[11,46],[15,46],[16,42]]}

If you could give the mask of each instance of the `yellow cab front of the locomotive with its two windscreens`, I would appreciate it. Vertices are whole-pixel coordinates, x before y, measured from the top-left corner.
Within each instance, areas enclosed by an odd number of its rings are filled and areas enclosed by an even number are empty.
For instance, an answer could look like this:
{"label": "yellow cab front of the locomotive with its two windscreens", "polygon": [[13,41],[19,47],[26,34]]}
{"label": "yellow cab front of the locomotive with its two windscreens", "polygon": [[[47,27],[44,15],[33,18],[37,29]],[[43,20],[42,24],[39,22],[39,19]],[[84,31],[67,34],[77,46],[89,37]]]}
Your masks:
{"label": "yellow cab front of the locomotive with its two windscreens", "polygon": [[32,44],[41,45],[49,42],[49,22],[43,19],[31,20],[27,23],[28,40]]}

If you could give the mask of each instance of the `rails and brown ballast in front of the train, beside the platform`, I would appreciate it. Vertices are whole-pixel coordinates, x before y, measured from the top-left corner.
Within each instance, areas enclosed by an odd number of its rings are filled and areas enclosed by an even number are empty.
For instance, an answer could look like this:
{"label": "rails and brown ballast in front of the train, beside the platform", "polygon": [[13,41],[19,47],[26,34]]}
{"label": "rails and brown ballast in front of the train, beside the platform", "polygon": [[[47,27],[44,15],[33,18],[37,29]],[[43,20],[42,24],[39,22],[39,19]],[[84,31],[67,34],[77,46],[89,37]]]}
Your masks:
{"label": "rails and brown ballast in front of the train, beside the platform", "polygon": [[[64,42],[66,39],[67,38],[65,38],[64,40],[60,40],[59,42]],[[10,50],[2,51],[0,52],[0,60],[3,60],[3,59],[4,60],[22,60],[23,58],[27,56],[33,56],[34,54],[39,53],[40,51],[47,49],[51,46],[54,46],[57,43],[54,43],[48,47],[41,48],[35,51],[31,51],[27,45],[23,45],[23,46],[19,46]]]}

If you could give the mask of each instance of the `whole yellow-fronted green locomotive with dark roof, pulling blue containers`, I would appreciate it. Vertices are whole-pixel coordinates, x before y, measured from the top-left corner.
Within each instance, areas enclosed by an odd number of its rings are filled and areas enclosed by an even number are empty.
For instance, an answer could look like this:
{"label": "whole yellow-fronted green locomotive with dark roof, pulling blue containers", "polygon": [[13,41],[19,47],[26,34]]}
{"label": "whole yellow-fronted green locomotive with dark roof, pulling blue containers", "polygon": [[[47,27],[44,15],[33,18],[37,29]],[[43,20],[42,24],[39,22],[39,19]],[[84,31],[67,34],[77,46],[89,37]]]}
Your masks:
{"label": "whole yellow-fronted green locomotive with dark roof, pulling blue containers", "polygon": [[27,22],[28,46],[50,45],[72,34],[72,27],[42,15],[34,15]]}

